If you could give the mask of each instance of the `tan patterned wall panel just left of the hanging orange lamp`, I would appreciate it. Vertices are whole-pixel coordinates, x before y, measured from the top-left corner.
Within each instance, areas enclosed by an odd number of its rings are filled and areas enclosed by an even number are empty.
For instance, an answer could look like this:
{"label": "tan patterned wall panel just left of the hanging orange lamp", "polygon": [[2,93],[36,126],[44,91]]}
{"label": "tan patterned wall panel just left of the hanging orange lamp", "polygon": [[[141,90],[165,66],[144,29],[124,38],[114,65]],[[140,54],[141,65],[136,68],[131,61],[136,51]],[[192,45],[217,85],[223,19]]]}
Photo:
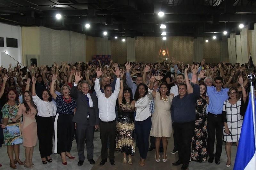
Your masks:
{"label": "tan patterned wall panel just left of the hanging orange lamp", "polygon": [[136,62],[156,62],[155,37],[136,37],[135,55]]}

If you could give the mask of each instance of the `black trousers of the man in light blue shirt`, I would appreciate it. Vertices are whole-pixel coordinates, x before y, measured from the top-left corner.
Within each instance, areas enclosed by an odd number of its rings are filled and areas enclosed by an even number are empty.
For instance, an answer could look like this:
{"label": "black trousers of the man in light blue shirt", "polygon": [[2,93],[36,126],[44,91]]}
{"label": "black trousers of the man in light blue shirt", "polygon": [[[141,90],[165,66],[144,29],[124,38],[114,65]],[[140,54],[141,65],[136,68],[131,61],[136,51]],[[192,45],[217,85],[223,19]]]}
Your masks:
{"label": "black trousers of the man in light blue shirt", "polygon": [[208,155],[214,157],[214,142],[216,132],[216,152],[215,159],[220,159],[222,152],[222,139],[223,139],[223,121],[222,115],[213,115],[210,112],[207,116],[207,131],[208,131]]}

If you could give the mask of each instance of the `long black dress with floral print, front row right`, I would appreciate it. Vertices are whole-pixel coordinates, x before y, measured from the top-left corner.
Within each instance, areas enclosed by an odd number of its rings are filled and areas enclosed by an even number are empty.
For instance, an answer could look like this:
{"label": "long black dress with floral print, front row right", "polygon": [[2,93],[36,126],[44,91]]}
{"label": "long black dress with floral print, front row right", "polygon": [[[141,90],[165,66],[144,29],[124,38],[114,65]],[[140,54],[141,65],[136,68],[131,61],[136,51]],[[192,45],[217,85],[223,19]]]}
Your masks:
{"label": "long black dress with floral print, front row right", "polygon": [[201,96],[196,101],[195,130],[191,141],[191,160],[205,162],[207,160],[207,115],[206,103]]}

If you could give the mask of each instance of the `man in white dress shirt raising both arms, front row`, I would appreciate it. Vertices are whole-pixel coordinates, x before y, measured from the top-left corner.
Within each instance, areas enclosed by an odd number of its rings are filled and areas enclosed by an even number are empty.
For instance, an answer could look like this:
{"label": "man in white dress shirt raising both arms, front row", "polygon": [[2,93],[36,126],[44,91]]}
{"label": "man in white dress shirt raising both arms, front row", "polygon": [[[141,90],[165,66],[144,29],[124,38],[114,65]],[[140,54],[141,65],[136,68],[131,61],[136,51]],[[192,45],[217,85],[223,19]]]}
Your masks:
{"label": "man in white dress shirt raising both arms, front row", "polygon": [[97,78],[95,80],[94,90],[98,97],[99,117],[100,117],[100,138],[101,138],[101,162],[104,165],[107,162],[108,149],[107,142],[109,138],[109,161],[111,165],[115,165],[115,140],[116,140],[116,99],[120,91],[120,70],[115,68],[116,72],[116,86],[112,93],[111,85],[104,86],[104,93],[100,91],[100,76],[102,71],[100,68],[96,69]]}

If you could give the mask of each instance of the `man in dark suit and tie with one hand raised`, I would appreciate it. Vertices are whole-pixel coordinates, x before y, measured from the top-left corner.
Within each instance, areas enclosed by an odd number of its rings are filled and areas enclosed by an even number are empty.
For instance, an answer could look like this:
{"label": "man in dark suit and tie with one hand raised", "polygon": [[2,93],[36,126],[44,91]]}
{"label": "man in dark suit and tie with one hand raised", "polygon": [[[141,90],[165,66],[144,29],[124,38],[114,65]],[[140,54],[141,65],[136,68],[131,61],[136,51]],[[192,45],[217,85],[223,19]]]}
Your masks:
{"label": "man in dark suit and tie with one hand raised", "polygon": [[100,124],[98,99],[96,95],[88,93],[88,82],[82,81],[81,91],[77,90],[77,84],[82,78],[81,73],[76,72],[75,83],[70,90],[71,96],[76,99],[77,106],[73,122],[76,122],[78,166],[82,166],[84,163],[84,142],[86,143],[88,161],[90,164],[95,163],[93,160],[93,135]]}

